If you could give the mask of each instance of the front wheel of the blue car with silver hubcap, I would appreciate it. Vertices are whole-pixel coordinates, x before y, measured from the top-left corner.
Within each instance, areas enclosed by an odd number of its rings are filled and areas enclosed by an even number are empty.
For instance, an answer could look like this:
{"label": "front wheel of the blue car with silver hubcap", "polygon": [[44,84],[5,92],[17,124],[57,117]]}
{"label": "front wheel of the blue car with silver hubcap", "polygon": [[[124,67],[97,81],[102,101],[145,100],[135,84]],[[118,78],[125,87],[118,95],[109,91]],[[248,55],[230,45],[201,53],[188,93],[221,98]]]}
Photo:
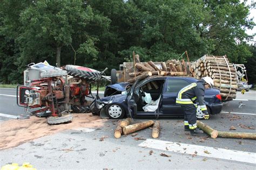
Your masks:
{"label": "front wheel of the blue car with silver hubcap", "polygon": [[122,119],[125,115],[125,110],[120,104],[108,104],[106,106],[106,115],[109,116],[110,119]]}

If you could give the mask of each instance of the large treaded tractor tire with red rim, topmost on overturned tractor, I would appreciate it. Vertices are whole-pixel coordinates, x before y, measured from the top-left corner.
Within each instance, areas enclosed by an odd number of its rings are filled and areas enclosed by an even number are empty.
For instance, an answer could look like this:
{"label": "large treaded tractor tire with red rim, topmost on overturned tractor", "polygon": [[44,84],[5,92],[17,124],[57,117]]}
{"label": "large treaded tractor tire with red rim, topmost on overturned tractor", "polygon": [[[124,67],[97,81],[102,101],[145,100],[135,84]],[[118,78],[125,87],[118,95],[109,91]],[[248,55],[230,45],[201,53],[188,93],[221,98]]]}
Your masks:
{"label": "large treaded tractor tire with red rim, topmost on overturned tractor", "polygon": [[102,75],[98,70],[87,68],[87,67],[66,65],[65,70],[68,71],[69,75],[79,77],[79,78],[91,79],[91,80],[99,80],[102,78]]}

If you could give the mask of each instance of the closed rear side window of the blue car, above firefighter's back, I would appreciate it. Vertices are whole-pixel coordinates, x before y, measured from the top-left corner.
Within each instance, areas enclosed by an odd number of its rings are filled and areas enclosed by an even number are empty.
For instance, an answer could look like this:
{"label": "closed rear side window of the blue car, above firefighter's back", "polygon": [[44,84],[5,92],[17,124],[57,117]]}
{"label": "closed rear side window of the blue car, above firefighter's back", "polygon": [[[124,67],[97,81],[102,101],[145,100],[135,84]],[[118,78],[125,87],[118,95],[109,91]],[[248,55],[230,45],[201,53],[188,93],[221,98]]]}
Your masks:
{"label": "closed rear side window of the blue car, above firefighter's back", "polygon": [[184,88],[187,86],[188,83],[185,80],[182,79],[168,79],[168,86],[167,86],[167,93],[177,93],[179,92],[180,89]]}

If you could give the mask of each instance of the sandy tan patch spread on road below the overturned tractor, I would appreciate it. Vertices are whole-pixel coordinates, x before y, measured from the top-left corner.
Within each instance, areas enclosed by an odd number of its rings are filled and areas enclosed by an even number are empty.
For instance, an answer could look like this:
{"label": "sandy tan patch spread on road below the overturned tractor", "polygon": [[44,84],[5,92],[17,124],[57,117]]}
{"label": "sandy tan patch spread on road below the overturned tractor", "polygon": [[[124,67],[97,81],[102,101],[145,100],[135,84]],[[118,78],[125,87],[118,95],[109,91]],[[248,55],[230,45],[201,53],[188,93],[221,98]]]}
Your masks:
{"label": "sandy tan patch spread on road below the overturned tractor", "polygon": [[91,114],[73,114],[71,123],[49,125],[46,118],[10,120],[0,124],[0,150],[21,145],[27,141],[74,128],[98,128],[106,119]]}

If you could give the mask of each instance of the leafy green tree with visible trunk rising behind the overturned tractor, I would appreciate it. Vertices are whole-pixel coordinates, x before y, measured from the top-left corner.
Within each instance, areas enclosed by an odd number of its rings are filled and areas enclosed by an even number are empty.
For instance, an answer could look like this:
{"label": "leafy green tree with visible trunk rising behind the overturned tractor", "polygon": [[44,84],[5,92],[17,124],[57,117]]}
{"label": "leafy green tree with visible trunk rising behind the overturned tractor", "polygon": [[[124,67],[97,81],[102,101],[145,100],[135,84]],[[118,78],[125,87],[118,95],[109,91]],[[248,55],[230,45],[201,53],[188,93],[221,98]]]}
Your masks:
{"label": "leafy green tree with visible trunk rising behind the overturned tractor", "polygon": [[[22,33],[18,37],[21,45],[23,63],[37,59],[45,59],[56,55],[56,63],[60,65],[60,53],[63,47],[79,37],[80,53],[97,55],[95,43],[97,38],[87,32],[92,22],[104,25],[107,29],[107,18],[94,15],[91,7],[82,1],[35,1],[33,5],[21,13]],[[88,52],[91,49],[91,52]],[[21,61],[20,60],[20,61]]]}

